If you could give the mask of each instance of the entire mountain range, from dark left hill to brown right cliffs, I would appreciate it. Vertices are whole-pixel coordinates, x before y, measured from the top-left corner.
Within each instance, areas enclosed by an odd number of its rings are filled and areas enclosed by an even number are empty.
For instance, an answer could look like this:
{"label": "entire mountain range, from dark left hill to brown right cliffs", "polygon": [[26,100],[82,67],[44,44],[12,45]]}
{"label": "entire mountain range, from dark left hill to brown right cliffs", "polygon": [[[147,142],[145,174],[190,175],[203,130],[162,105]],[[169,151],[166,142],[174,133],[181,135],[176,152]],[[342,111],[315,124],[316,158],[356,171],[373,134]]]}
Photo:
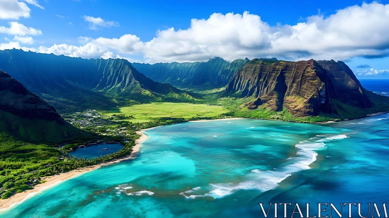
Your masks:
{"label": "entire mountain range, from dark left hill to brown right cliffs", "polygon": [[[29,142],[90,135],[65,122],[56,109],[108,110],[156,101],[220,104],[228,98],[241,104],[233,109],[236,116],[274,118],[269,115],[277,112],[300,122],[359,118],[389,108],[388,97],[364,89],[344,62],[334,60],[216,57],[150,65],[13,49],[0,51],[0,69],[9,73],[0,74],[0,131]],[[217,90],[201,91],[207,89]]]}

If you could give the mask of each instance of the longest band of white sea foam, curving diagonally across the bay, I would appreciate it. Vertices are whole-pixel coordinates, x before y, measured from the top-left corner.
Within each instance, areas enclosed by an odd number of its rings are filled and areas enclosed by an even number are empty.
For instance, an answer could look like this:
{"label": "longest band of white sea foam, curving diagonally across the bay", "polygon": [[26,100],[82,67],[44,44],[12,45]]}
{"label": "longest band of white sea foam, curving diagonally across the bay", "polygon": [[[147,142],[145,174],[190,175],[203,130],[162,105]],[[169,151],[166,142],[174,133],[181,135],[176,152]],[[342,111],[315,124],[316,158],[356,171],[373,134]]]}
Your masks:
{"label": "longest band of white sea foam, curving diagonally across the bay", "polygon": [[[238,184],[233,183],[220,183],[210,184],[209,191],[203,195],[191,195],[186,196],[184,193],[180,193],[185,198],[196,198],[210,196],[218,199],[223,198],[233,192],[241,189],[250,190],[256,189],[261,191],[268,191],[278,186],[280,182],[301,170],[310,169],[310,165],[316,161],[318,150],[325,149],[325,142],[332,140],[341,140],[347,138],[346,135],[317,135],[305,141],[301,141],[295,147],[297,149],[296,157],[288,158],[287,164],[274,170],[261,171],[259,169],[251,170],[251,173],[247,175],[248,180],[240,182]],[[191,192],[192,193],[192,192]]]}

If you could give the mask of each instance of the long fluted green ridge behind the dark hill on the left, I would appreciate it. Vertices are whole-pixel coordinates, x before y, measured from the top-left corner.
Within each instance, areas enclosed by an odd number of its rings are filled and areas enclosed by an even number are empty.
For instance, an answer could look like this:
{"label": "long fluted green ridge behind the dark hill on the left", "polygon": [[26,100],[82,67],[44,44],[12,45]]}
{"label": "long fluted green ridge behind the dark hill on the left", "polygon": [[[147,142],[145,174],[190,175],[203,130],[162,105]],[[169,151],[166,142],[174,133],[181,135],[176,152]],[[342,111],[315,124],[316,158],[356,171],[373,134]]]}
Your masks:
{"label": "long fluted green ridge behind the dark hill on the left", "polygon": [[0,51],[0,67],[59,110],[109,109],[131,100],[194,99],[154,82],[125,59],[83,59],[22,50]]}

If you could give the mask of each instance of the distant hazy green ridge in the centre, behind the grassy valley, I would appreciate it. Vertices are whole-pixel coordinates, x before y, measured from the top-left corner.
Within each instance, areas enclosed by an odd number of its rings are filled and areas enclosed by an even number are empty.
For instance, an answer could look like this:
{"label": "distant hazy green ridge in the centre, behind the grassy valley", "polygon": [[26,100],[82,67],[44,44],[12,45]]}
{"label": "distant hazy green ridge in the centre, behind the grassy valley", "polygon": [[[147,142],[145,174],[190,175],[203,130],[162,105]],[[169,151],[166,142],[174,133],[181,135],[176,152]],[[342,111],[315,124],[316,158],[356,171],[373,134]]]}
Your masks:
{"label": "distant hazy green ridge in the centre, behind the grassy valley", "polygon": [[228,62],[223,58],[214,57],[207,62],[132,63],[132,65],[139,72],[158,82],[170,83],[179,88],[215,89],[226,86],[231,76],[248,61],[246,58]]}

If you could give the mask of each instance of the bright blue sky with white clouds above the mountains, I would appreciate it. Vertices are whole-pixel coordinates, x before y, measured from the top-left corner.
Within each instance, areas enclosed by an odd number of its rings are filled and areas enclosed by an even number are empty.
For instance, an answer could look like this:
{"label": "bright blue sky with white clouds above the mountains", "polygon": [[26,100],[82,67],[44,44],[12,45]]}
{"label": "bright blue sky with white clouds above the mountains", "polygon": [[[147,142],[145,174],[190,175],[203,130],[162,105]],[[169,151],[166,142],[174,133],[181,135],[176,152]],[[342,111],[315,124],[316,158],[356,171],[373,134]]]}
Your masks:
{"label": "bright blue sky with white clouds above the mountains", "polygon": [[389,79],[389,0],[0,0],[0,50],[130,62],[342,60]]}

